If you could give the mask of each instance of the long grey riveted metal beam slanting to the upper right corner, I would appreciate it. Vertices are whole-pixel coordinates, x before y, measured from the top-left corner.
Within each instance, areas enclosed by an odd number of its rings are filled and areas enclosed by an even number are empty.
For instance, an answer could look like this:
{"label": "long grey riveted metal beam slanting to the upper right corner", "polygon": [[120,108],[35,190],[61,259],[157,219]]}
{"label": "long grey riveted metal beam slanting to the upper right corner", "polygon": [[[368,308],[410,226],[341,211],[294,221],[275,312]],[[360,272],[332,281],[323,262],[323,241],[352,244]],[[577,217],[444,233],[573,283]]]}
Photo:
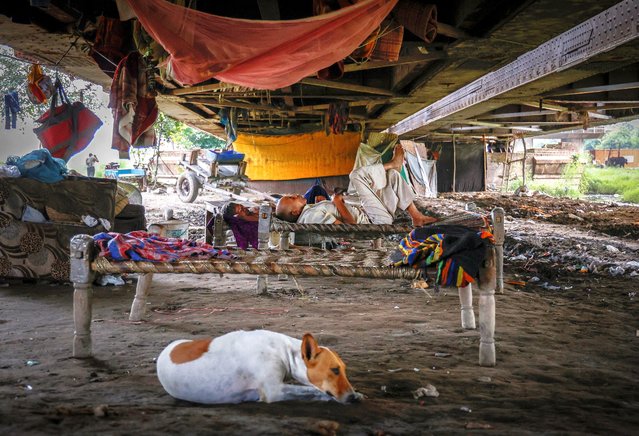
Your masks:
{"label": "long grey riveted metal beam slanting to the upper right corner", "polygon": [[573,67],[639,37],[639,0],[624,0],[386,129],[403,134]]}

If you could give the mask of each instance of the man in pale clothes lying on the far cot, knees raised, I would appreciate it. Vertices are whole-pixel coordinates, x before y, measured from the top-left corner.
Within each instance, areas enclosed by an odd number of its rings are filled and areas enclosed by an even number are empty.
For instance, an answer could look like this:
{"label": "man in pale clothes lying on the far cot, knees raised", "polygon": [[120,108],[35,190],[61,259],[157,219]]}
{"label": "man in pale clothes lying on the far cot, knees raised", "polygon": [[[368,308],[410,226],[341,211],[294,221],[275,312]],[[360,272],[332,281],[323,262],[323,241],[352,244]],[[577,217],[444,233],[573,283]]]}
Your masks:
{"label": "man in pale clothes lying on the far cot, knees raised", "polygon": [[307,204],[301,195],[282,197],[275,215],[284,221],[301,224],[392,224],[397,209],[405,210],[414,227],[437,221],[423,215],[413,202],[415,194],[399,171],[404,163],[404,150],[396,145],[393,158],[385,164],[373,164],[353,170],[350,179],[359,194],[361,208],[347,205],[341,194],[332,201]]}

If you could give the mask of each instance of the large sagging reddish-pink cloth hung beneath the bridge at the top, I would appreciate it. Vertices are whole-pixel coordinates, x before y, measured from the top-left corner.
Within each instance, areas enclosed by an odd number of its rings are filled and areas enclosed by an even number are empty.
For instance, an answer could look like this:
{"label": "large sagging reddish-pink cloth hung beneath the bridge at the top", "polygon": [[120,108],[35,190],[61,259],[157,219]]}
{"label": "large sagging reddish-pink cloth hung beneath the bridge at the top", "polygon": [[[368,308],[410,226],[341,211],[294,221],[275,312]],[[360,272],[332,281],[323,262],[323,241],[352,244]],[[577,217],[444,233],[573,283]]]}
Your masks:
{"label": "large sagging reddish-pink cloth hung beneath the bridge at the top", "polygon": [[289,21],[220,17],[165,0],[127,0],[145,30],[170,53],[175,80],[210,78],[278,89],[344,59],[374,31],[397,0],[363,0]]}

